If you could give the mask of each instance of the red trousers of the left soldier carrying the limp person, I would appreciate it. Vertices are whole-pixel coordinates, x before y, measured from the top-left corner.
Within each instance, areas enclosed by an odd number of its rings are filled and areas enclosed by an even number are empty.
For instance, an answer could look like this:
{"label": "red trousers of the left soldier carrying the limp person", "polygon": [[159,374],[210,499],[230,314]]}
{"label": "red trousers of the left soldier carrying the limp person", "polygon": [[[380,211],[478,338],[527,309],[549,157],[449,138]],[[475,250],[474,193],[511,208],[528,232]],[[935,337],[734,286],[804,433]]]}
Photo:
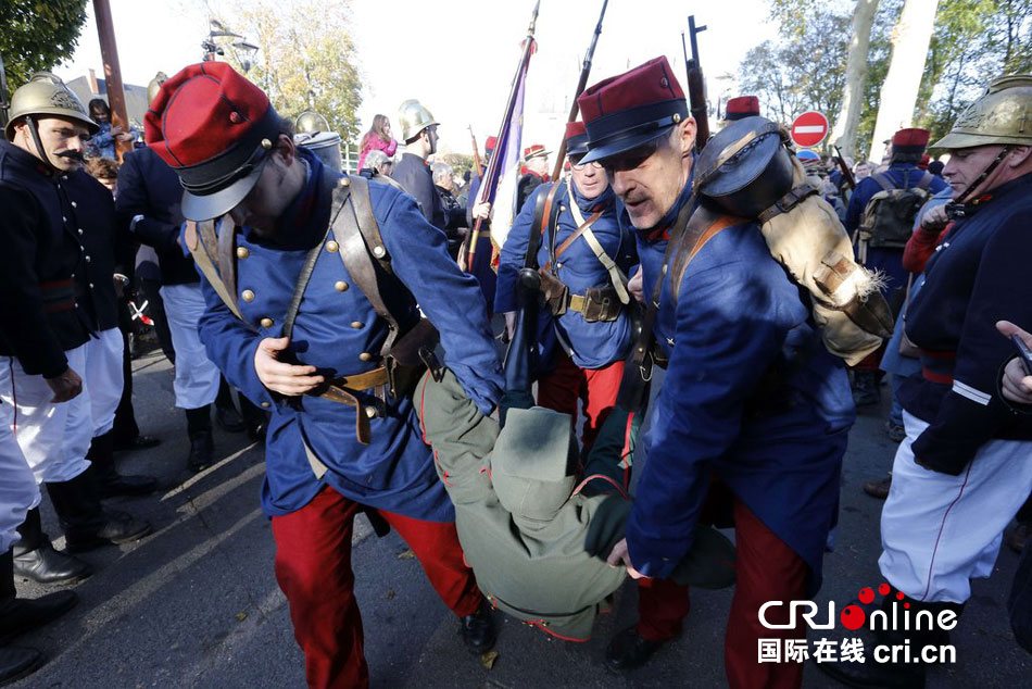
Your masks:
{"label": "red trousers of the left soldier carrying the limp person", "polygon": [[[273,517],[276,580],[290,603],[309,687],[369,684],[351,569],[351,535],[360,509],[327,486],[297,512]],[[461,617],[475,613],[483,598],[463,562],[455,525],[378,512],[412,548],[444,604]]]}

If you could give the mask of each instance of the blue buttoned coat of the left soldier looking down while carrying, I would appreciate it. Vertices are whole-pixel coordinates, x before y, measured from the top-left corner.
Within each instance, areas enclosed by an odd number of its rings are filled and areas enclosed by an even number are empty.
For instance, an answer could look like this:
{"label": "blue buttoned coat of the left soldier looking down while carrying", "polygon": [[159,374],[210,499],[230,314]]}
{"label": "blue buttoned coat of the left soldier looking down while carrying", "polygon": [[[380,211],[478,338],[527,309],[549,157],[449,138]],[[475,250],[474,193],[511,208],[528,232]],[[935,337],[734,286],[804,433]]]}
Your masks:
{"label": "blue buttoned coat of the left soldier looking down while carrying", "polygon": [[[259,342],[281,336],[305,254],[323,240],[329,217],[330,198],[319,184],[325,168],[304,149],[298,154],[309,165],[309,183],[280,218],[279,238],[263,239],[248,227],[237,230],[237,289],[247,323],[234,317],[201,279],[207,309],[200,335],[209,356],[229,383],[273,412],[262,491],[265,513],[299,510],[328,483],[365,505],[451,521],[451,503],[410,399],[389,398],[386,417],[372,421],[372,442],[363,446],[355,438],[355,409],[318,397],[284,398],[267,390],[254,372]],[[375,181],[369,192],[395,275],[440,330],[444,363],[477,406],[490,413],[501,397],[501,364],[476,280],[458,271],[445,251],[444,233],[426,222],[412,197]],[[336,245],[326,242],[301,302],[290,353],[328,376],[353,375],[380,365],[377,356],[366,361],[369,356],[363,354],[378,354],[386,337],[386,322],[354,284]],[[302,440],[328,467],[322,480],[313,474]]]}

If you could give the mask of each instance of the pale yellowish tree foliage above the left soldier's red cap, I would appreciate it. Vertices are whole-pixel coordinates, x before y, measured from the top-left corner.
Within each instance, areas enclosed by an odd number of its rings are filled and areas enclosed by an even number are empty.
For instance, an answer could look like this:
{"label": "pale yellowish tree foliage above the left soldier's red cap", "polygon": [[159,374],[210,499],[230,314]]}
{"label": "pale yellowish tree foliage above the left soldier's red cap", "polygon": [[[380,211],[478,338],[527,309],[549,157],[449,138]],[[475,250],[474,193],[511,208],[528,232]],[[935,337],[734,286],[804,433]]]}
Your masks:
{"label": "pale yellowish tree foliage above the left soldier's red cap", "polygon": [[[223,22],[259,53],[248,77],[268,93],[276,111],[293,120],[314,110],[344,141],[361,136],[356,111],[362,84],[350,32],[350,2],[326,0],[318,12],[300,0],[232,0]],[[226,59],[240,63],[232,50]]]}

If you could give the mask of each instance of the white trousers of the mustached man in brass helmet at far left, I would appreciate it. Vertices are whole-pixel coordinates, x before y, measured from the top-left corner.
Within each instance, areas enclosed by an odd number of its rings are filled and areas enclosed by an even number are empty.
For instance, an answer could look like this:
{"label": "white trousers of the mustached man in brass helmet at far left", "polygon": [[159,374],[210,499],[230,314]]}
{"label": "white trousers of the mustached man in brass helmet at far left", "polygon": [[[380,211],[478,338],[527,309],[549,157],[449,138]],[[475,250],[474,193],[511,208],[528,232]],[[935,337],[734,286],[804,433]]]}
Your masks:
{"label": "white trousers of the mustached man in brass helmet at far left", "polygon": [[[86,381],[87,344],[68,350],[68,366]],[[42,376],[30,376],[13,356],[0,356],[0,423],[17,439],[36,483],[61,483],[86,471],[93,421],[89,387],[67,402],[51,403]]]}

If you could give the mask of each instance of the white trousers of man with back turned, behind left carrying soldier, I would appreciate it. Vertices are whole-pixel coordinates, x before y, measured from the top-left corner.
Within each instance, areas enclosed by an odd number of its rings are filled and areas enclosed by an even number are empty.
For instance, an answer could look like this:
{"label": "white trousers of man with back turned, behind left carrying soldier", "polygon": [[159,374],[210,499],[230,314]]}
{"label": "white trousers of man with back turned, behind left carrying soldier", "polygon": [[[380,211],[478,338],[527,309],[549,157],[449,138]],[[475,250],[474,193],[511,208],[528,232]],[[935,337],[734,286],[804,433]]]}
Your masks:
{"label": "white trousers of man with back turned, behind left carrying soldier", "polygon": [[163,285],[161,298],[172,331],[172,347],[176,350],[176,406],[200,409],[215,401],[218,394],[218,368],[207,358],[197,333],[204,297],[201,286]]}

